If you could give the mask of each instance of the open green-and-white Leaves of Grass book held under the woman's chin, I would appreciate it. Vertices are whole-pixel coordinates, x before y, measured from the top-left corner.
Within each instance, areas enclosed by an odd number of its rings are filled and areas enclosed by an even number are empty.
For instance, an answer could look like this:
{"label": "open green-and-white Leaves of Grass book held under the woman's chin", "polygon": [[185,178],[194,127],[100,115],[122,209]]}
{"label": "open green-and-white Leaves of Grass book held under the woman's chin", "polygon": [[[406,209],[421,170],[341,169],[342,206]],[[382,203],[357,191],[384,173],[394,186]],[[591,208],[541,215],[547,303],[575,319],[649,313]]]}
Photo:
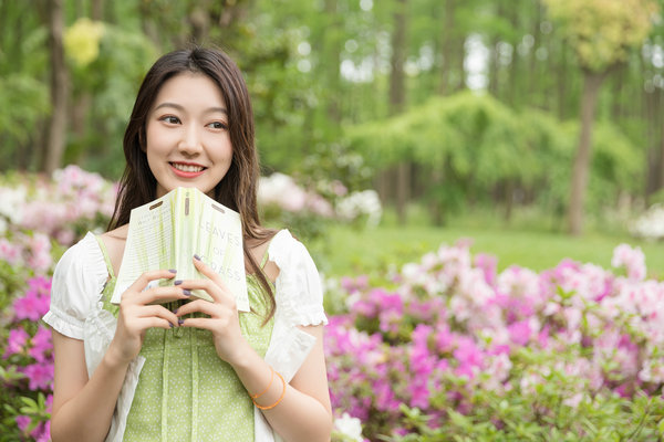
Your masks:
{"label": "open green-and-white Leaves of Grass book held under the woman's chin", "polygon": [[[205,278],[191,261],[197,254],[217,272],[236,297],[238,311],[249,312],[240,214],[196,188],[178,187],[132,210],[127,242],[111,302],[144,272],[175,269],[174,280]],[[174,280],[159,280],[162,286]],[[154,284],[151,284],[154,285]],[[191,296],[212,301],[200,290]]]}

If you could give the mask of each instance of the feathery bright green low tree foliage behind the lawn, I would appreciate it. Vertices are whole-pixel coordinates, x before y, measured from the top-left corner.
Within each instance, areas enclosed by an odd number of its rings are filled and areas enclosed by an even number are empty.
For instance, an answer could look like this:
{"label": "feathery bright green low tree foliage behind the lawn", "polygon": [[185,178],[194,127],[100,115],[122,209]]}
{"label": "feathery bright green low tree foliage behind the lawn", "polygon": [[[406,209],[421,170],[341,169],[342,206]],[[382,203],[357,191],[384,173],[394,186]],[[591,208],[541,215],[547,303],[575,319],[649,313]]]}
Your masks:
{"label": "feathery bright green low tree foliage behind the lawn", "polygon": [[[429,200],[448,212],[487,200],[505,186],[532,194],[553,213],[564,212],[578,124],[558,123],[546,112],[516,112],[490,95],[460,93],[346,134],[374,171],[416,164],[430,178],[425,179]],[[600,122],[589,208],[614,204],[621,191],[639,193],[642,167],[643,151],[614,125]]]}

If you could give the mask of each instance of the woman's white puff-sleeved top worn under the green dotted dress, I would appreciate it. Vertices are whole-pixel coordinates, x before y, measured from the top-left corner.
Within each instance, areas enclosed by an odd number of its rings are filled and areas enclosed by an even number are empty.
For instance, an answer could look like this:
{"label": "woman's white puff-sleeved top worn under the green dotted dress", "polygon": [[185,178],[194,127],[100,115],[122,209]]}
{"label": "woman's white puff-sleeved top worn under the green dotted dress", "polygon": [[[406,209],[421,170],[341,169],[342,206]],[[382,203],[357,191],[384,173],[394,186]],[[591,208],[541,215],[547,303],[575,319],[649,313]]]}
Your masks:
{"label": "woman's white puff-sleeved top worn under the green dotted dress", "polygon": [[[266,352],[266,362],[290,381],[315,338],[298,326],[326,324],[320,276],[304,245],[288,230],[279,231],[268,248],[268,259],[279,267],[276,281],[274,326]],[[85,364],[92,376],[113,336],[117,319],[103,308],[102,292],[110,274],[104,253],[94,234],[87,233],[59,261],[53,274],[51,306],[43,320],[64,336],[81,339]],[[122,441],[138,375],[142,356],[132,361],[120,392],[106,441]],[[256,441],[280,441],[255,407]]]}

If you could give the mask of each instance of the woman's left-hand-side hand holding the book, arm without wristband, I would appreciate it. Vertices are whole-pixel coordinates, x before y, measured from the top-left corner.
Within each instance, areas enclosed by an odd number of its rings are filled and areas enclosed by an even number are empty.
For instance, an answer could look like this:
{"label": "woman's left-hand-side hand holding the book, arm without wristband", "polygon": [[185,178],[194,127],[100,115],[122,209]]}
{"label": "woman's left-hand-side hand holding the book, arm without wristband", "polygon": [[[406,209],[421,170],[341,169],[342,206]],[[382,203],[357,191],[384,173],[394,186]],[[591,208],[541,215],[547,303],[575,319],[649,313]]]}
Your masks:
{"label": "woman's left-hand-side hand holding the book, arm without wristband", "polygon": [[175,272],[155,270],[145,272],[122,294],[115,336],[107,354],[117,364],[128,364],[141,351],[145,332],[151,327],[170,328],[177,326],[177,316],[159,302],[186,299],[188,295],[181,286],[152,287],[147,284],[156,280],[172,280]]}

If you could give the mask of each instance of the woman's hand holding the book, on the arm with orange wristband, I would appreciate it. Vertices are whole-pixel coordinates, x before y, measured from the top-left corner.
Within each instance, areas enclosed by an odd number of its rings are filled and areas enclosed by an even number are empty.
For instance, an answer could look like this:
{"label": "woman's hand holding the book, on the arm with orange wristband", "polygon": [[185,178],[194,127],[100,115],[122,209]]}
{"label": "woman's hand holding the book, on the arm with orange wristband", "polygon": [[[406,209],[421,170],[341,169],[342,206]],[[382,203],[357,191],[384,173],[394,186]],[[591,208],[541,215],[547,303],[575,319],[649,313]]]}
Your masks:
{"label": "woman's hand holding the book, on the arm with orange wristband", "polygon": [[238,362],[246,351],[250,351],[249,343],[240,330],[240,320],[235,296],[228,286],[210,266],[194,257],[194,265],[206,280],[186,280],[179,285],[188,290],[206,291],[212,302],[196,299],[179,307],[177,316],[199,312],[209,317],[187,318],[181,322],[184,327],[204,328],[212,333],[217,355],[231,366]]}

